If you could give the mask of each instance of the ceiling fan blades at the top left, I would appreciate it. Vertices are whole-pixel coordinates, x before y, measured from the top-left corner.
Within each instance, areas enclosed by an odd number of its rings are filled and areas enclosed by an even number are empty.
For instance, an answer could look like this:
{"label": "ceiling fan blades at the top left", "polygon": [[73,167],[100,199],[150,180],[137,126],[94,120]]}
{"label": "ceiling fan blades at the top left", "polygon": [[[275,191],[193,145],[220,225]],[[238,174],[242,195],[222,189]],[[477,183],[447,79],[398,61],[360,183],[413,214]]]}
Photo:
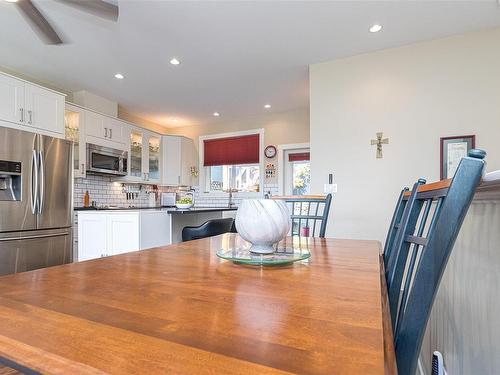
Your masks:
{"label": "ceiling fan blades at the top left", "polygon": [[[7,0],[15,3],[17,9],[31,24],[35,33],[46,44],[62,44],[63,41],[31,0]],[[103,0],[56,0],[95,16],[114,21],[118,20],[118,6]]]}

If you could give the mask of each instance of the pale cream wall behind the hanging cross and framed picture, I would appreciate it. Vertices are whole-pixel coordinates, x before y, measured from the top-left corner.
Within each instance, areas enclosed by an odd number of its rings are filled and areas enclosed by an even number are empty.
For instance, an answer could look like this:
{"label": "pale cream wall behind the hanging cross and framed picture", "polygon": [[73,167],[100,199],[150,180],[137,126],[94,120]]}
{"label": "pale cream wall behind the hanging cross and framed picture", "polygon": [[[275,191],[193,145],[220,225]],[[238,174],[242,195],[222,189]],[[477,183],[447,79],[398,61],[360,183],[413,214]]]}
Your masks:
{"label": "pale cream wall behind the hanging cross and framed picture", "polygon": [[310,116],[313,191],[338,183],[327,235],[384,240],[401,188],[439,179],[440,137],[476,134],[500,169],[500,29],[312,65]]}

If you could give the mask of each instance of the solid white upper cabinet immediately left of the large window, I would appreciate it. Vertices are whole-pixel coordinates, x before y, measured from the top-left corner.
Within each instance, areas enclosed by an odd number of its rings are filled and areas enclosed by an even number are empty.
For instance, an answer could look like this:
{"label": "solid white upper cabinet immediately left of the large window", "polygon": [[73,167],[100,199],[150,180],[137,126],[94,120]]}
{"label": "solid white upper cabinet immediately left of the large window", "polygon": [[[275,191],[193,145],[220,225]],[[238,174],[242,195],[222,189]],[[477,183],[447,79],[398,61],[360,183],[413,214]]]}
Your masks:
{"label": "solid white upper cabinet immediately left of the large window", "polygon": [[162,147],[162,184],[193,185],[191,167],[198,166],[193,140],[178,136],[163,136]]}

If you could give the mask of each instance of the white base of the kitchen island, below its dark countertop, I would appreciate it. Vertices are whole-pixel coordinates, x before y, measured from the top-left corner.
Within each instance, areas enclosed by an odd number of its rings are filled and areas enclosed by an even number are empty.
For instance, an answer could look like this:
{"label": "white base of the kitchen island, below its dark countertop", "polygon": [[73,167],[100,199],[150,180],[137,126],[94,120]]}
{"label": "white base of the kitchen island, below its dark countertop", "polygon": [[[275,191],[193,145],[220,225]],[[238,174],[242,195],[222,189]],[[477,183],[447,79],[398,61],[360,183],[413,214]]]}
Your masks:
{"label": "white base of the kitchen island, below its dark countertop", "polygon": [[78,261],[166,246],[171,216],[165,211],[80,211]]}

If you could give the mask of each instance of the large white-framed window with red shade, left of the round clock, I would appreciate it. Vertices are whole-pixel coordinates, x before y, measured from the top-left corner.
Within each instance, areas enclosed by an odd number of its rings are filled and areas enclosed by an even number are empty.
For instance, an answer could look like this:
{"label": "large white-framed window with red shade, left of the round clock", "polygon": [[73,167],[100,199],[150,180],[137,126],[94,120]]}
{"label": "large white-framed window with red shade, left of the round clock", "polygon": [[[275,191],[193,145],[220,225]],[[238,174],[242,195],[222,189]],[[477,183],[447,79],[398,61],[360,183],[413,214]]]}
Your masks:
{"label": "large white-framed window with red shade, left of the round clock", "polygon": [[261,191],[262,133],[259,130],[200,137],[200,182],[205,192]]}

